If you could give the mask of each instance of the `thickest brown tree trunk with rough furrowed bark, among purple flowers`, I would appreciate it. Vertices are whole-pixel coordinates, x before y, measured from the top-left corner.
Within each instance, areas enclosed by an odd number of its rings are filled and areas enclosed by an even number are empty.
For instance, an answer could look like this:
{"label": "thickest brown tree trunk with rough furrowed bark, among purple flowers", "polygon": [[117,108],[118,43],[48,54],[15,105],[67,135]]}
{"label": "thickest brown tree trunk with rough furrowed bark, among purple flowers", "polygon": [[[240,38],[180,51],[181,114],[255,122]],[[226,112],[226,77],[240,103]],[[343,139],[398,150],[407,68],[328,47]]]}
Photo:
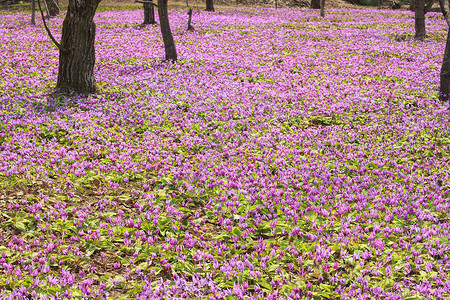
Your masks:
{"label": "thickest brown tree trunk with rough furrowed bark, among purple flowers", "polygon": [[56,88],[95,93],[95,23],[99,0],[70,0],[63,22]]}

